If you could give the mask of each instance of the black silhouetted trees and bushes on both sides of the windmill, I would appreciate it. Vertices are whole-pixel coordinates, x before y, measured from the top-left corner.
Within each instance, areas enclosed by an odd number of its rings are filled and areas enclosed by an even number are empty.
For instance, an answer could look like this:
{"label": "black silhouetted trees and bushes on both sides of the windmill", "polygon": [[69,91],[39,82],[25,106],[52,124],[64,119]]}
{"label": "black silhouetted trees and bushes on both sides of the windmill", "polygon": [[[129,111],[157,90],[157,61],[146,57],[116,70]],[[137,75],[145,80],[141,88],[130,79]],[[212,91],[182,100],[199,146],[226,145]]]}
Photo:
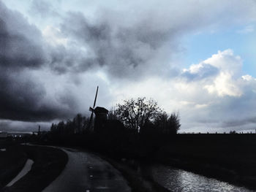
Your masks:
{"label": "black silhouetted trees and bushes on both sides of the windmill", "polygon": [[[108,114],[106,130],[133,131],[138,134],[159,133],[177,134],[181,126],[178,112],[167,115],[154,99],[138,98],[124,100],[117,104],[115,110]],[[89,118],[80,113],[72,120],[53,123],[50,132],[53,134],[86,134],[91,131]]]}

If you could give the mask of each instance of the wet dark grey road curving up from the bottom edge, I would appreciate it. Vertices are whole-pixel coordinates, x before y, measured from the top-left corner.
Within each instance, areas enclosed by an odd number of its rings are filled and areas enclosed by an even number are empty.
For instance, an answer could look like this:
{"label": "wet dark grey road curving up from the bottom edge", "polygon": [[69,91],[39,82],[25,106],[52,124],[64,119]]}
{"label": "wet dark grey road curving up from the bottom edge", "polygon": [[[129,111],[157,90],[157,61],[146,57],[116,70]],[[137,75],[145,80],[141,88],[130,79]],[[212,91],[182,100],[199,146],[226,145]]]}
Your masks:
{"label": "wet dark grey road curving up from the bottom edge", "polygon": [[67,153],[69,161],[59,177],[43,192],[131,191],[121,173],[97,155],[58,148]]}

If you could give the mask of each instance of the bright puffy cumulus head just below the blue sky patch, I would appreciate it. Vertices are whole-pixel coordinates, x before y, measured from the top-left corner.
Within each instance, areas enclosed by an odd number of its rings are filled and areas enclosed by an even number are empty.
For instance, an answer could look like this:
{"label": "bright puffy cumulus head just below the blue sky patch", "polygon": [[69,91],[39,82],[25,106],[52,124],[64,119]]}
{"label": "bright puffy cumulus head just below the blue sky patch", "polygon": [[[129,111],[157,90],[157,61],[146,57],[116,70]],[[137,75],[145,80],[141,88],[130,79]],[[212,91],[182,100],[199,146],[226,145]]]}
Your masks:
{"label": "bright puffy cumulus head just below the blue sky patch", "polygon": [[242,69],[242,60],[233,54],[233,50],[218,51],[211,58],[193,64],[183,70],[183,76],[188,80],[197,80],[208,93],[218,96],[241,96],[238,85]]}

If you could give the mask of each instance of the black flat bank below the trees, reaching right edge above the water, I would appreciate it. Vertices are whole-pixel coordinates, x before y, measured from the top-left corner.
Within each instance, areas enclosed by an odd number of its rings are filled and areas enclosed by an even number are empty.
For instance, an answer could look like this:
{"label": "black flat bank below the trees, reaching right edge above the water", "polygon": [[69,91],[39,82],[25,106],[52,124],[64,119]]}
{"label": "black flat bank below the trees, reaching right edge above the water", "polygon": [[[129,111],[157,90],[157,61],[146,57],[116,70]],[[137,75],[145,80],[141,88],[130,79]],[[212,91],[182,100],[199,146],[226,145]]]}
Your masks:
{"label": "black flat bank below the trees, reaching right edge above the water", "polygon": [[255,134],[73,134],[47,143],[83,147],[139,169],[156,163],[174,166],[256,190]]}

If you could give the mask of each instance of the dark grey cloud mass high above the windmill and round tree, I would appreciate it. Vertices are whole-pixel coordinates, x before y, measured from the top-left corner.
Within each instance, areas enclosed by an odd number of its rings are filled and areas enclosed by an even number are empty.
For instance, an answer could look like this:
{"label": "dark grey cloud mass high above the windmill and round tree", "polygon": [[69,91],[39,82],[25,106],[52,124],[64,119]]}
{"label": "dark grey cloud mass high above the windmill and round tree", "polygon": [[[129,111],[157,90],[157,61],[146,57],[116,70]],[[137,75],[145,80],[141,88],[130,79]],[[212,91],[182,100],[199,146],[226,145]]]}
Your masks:
{"label": "dark grey cloud mass high above the windmill and round tree", "polygon": [[151,68],[151,59],[173,35],[170,28],[151,25],[150,20],[139,20],[133,26],[123,26],[108,20],[108,15],[89,22],[82,13],[69,12],[61,31],[87,50],[85,58],[69,69],[83,72],[91,66],[107,66],[110,74],[122,78],[149,72],[145,67]]}

